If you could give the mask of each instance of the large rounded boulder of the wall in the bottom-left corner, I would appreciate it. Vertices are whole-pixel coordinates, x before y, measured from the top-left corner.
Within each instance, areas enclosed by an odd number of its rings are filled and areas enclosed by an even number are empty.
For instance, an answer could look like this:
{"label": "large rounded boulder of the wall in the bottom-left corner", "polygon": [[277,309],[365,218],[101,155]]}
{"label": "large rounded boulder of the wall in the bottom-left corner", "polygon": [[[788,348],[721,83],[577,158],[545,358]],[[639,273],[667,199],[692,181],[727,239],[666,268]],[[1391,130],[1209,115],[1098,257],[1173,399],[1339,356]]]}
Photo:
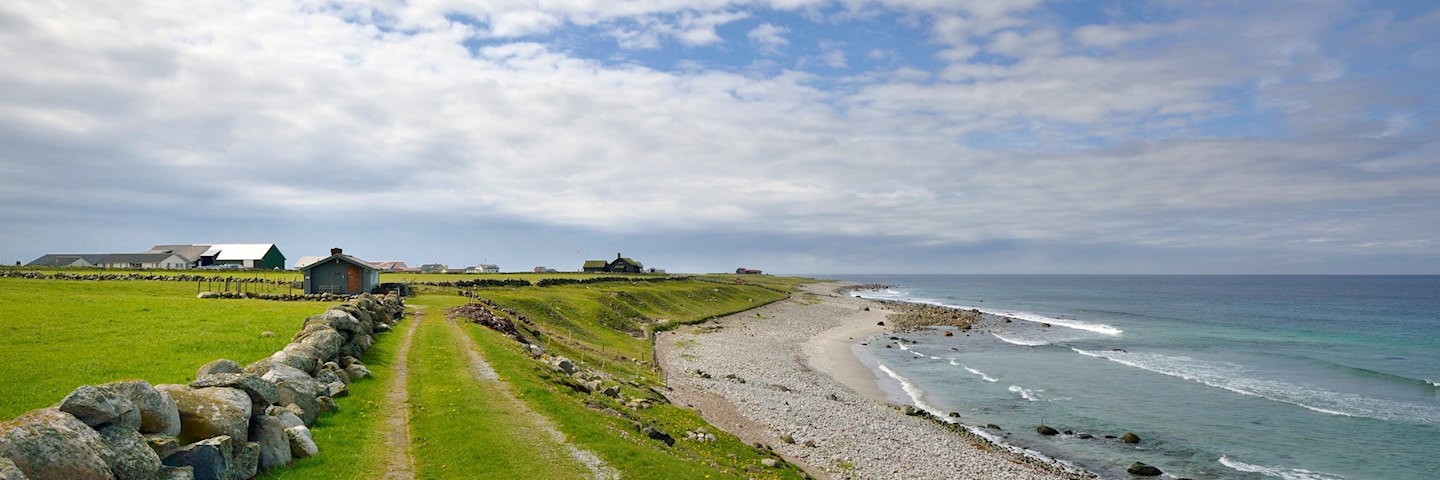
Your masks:
{"label": "large rounded boulder of the wall in the bottom-left corner", "polygon": [[9,458],[29,480],[114,479],[114,457],[95,430],[56,408],[0,422],[0,458]]}

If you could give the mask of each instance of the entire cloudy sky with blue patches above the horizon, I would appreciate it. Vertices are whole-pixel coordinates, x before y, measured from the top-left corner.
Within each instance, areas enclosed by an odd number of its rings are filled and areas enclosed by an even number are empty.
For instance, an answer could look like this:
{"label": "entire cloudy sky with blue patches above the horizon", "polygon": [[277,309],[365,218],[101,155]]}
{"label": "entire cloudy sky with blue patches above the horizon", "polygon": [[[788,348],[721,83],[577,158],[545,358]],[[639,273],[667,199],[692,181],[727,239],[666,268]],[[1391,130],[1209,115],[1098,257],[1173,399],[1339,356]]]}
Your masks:
{"label": "entire cloudy sky with blue patches above the horizon", "polygon": [[0,262],[1437,274],[1440,3],[0,3]]}

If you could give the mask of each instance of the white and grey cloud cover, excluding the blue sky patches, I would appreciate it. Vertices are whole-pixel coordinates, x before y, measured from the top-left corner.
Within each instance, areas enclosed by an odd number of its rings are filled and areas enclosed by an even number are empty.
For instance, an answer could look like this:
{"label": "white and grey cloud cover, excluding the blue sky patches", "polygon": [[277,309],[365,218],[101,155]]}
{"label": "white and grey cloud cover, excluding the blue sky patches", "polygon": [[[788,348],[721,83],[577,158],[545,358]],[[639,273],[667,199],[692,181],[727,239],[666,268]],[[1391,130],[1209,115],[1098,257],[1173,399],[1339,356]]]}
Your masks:
{"label": "white and grey cloud cover, excluding the blue sky patches", "polygon": [[[922,52],[952,62],[903,65],[913,52],[865,45],[900,66],[852,76],[736,72],[688,52],[684,69],[662,71],[504,40],[582,22],[634,49],[717,46],[720,26],[747,19],[760,46],[792,33],[755,4],[6,4],[0,200],[23,208],[0,222],[72,218],[82,231],[179,205],[595,235],[1155,248],[1325,238],[1310,244],[1434,254],[1413,242],[1440,234],[1417,221],[1440,202],[1434,97],[1423,95],[1433,86],[1400,95],[1384,86],[1410,74],[1356,78],[1305,27],[1319,20],[1259,42],[1225,27],[1257,32],[1274,17],[1126,33],[1123,22],[1067,30],[1025,17],[1035,1],[896,1],[935,20],[919,35],[936,45]],[[478,23],[445,20],[456,12]],[[475,52],[464,45],[487,35]],[[1139,48],[1151,40],[1164,49]],[[971,63],[981,49],[1012,61]],[[840,43],[821,55],[865,62]],[[1272,115],[1287,123],[1251,120]],[[1354,206],[1394,213],[1308,213]]]}

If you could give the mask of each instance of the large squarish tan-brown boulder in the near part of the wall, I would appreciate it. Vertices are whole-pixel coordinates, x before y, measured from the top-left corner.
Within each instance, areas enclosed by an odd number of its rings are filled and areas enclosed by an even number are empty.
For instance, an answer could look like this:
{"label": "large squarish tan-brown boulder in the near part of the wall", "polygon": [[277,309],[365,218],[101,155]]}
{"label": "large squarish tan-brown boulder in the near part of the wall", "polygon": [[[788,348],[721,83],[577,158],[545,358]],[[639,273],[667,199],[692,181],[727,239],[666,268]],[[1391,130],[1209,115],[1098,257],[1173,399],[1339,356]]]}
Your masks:
{"label": "large squarish tan-brown boulder in the near part of the wall", "polygon": [[[226,386],[189,388],[184,385],[157,385],[157,389],[170,394],[180,409],[181,444],[193,444],[215,437],[228,437],[233,444],[243,444],[249,438],[251,396],[245,392]],[[225,451],[226,457],[233,451]],[[206,471],[196,467],[196,479],[203,479]]]}

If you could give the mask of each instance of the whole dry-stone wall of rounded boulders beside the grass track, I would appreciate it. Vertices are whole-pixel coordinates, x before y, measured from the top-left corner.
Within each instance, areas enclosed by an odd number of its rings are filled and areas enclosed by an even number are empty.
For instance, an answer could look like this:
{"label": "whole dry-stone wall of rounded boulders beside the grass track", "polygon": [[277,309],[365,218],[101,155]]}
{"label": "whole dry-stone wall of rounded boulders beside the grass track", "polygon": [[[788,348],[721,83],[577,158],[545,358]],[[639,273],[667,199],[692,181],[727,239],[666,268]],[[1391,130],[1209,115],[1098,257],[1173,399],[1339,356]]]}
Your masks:
{"label": "whole dry-stone wall of rounded boulders beside the grass track", "polygon": [[305,319],[282,350],[248,366],[219,359],[189,385],[84,385],[59,405],[0,422],[0,480],[243,480],[317,454],[310,427],[359,357],[403,317],[397,295],[363,294]]}

